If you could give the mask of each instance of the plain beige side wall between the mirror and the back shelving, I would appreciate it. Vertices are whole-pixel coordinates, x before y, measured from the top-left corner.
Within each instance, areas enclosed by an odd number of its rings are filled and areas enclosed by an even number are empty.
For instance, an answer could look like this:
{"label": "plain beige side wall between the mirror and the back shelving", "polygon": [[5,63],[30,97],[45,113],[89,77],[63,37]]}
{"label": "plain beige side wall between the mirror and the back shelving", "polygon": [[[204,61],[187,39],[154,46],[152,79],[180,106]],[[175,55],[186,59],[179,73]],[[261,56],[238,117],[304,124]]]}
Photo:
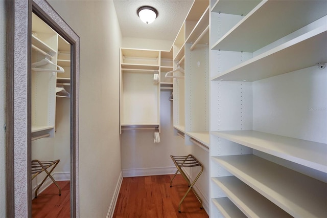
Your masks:
{"label": "plain beige side wall between the mirror and the back shelving", "polygon": [[80,36],[80,217],[106,217],[121,173],[121,31],[112,1],[49,2]]}

